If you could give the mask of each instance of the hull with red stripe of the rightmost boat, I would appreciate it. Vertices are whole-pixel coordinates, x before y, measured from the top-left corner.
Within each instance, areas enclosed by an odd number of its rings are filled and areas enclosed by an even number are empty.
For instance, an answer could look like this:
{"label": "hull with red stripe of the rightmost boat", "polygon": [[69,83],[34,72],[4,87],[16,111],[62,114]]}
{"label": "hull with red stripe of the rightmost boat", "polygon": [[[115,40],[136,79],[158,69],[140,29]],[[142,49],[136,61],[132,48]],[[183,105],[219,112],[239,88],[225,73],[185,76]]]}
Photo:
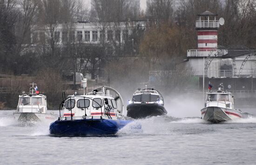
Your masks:
{"label": "hull with red stripe of the rightmost boat", "polygon": [[242,113],[228,108],[221,108],[217,106],[209,106],[201,110],[202,119],[212,123],[225,122],[231,119],[242,118]]}

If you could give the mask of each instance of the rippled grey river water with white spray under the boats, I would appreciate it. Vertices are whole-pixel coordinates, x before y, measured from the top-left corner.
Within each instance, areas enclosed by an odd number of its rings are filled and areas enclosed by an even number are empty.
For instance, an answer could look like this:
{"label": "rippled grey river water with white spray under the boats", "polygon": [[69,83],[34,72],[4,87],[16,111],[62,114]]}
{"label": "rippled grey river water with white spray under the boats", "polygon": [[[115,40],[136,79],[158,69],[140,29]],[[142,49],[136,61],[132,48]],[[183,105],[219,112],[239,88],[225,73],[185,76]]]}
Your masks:
{"label": "rippled grey river water with white spray under the boats", "polygon": [[[256,164],[253,115],[223,124],[151,117],[135,120],[114,137],[57,138],[49,136],[49,122],[20,125],[12,113],[0,111],[0,164]],[[141,130],[133,129],[138,123]]]}

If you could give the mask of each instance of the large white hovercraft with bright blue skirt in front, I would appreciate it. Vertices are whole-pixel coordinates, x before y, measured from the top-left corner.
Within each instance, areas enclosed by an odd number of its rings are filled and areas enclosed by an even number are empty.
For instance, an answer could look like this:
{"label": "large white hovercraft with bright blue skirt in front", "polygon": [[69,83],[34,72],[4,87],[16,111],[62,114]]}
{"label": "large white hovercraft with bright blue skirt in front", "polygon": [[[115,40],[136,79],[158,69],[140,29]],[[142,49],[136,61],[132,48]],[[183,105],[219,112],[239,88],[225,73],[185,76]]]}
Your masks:
{"label": "large white hovercraft with bright blue skirt in front", "polygon": [[60,109],[59,119],[50,125],[53,136],[115,135],[130,122],[124,120],[120,93],[111,87],[102,86],[83,95],[75,93],[62,103],[63,115]]}

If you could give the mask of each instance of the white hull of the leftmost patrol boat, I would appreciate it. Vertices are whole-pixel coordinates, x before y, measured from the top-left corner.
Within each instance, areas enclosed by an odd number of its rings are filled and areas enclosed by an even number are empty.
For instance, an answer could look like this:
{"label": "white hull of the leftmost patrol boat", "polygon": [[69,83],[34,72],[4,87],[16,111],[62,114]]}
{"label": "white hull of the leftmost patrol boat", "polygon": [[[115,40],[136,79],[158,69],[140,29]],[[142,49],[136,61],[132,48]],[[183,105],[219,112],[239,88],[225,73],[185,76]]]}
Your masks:
{"label": "white hull of the leftmost patrol boat", "polygon": [[34,122],[55,119],[55,116],[50,113],[14,112],[13,115],[14,118],[20,122]]}

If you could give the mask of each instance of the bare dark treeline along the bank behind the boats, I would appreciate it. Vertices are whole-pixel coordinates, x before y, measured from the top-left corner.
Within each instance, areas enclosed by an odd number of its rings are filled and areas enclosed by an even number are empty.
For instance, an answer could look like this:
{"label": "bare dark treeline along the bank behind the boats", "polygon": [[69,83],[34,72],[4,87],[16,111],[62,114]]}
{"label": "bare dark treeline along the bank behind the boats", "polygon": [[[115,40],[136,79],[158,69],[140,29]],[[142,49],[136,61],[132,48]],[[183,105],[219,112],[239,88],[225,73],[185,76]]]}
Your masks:
{"label": "bare dark treeline along the bank behind the boats", "polygon": [[[118,83],[145,82],[150,70],[184,71],[187,49],[197,48],[197,14],[206,10],[225,19],[218,45],[256,47],[255,0],[182,0],[179,8],[173,0],[148,0],[146,11],[141,11],[136,0],[92,0],[91,10],[83,0],[0,0],[0,72],[31,76],[48,72],[45,68],[54,75],[74,68],[85,72],[77,59],[90,64],[86,72],[92,79]],[[62,25],[70,33],[74,20],[98,23],[101,30],[111,24],[116,32],[121,23],[145,20],[147,25],[135,26],[125,44],[114,40],[97,45],[74,43],[68,35],[65,44],[57,45],[57,27]],[[36,29],[47,29],[46,42],[34,44]]]}

